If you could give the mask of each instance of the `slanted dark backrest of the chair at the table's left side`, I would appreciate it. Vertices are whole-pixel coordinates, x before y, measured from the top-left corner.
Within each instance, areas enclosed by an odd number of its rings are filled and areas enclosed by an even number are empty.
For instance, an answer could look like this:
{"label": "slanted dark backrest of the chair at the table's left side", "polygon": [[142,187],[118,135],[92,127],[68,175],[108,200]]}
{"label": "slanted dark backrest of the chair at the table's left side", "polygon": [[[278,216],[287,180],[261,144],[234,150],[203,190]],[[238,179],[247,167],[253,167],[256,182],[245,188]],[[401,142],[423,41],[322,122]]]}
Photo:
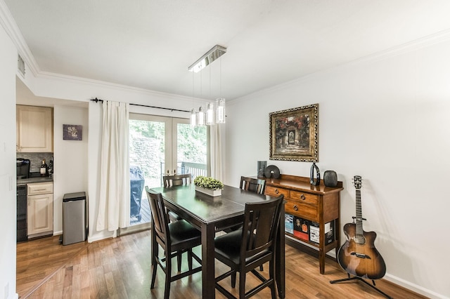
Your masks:
{"label": "slanted dark backrest of the chair at the table's left side", "polygon": [[167,245],[170,238],[169,234],[169,219],[167,217],[164,200],[161,193],[153,192],[146,186],[148,203],[150,204],[150,211],[152,214],[153,226],[155,227],[156,240],[162,246]]}

